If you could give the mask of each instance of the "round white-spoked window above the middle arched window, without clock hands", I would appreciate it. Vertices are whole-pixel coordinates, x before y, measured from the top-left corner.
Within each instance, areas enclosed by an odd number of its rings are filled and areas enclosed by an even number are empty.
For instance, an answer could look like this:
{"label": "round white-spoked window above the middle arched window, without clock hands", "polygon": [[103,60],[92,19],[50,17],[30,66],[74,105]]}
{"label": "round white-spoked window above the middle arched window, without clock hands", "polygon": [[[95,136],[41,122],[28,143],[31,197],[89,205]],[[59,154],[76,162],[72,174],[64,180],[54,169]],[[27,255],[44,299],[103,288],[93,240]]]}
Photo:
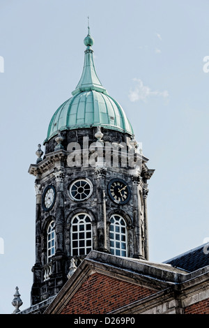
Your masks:
{"label": "round white-spoked window above the middle arched window, without clock hands", "polygon": [[79,179],[74,181],[69,188],[69,195],[72,200],[81,202],[88,199],[93,192],[93,185],[88,179]]}

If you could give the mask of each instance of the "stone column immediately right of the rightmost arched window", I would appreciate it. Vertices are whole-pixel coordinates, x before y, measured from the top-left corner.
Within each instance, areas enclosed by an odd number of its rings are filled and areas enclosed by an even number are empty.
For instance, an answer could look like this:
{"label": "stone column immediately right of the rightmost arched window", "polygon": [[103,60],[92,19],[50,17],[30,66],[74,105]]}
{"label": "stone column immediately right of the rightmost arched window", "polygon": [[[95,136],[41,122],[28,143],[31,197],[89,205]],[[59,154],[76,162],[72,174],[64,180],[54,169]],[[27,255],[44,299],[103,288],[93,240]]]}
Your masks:
{"label": "stone column immediately right of the rightmost arched window", "polygon": [[141,247],[141,219],[140,219],[140,196],[139,175],[132,176],[133,181],[133,225],[134,225],[134,258],[144,258]]}

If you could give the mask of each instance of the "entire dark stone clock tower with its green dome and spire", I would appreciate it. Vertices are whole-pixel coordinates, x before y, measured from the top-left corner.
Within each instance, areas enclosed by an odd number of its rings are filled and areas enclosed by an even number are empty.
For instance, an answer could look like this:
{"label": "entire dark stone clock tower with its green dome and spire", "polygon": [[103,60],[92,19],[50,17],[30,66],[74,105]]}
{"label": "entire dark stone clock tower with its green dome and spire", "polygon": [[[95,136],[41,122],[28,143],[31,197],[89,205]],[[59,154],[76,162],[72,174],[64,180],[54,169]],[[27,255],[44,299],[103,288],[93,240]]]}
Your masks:
{"label": "entire dark stone clock tower with its green dome and spire", "polygon": [[148,260],[148,179],[154,170],[130,121],[102,86],[88,29],[72,97],[49,123],[36,164],[36,263],[31,305],[56,295],[91,250]]}

